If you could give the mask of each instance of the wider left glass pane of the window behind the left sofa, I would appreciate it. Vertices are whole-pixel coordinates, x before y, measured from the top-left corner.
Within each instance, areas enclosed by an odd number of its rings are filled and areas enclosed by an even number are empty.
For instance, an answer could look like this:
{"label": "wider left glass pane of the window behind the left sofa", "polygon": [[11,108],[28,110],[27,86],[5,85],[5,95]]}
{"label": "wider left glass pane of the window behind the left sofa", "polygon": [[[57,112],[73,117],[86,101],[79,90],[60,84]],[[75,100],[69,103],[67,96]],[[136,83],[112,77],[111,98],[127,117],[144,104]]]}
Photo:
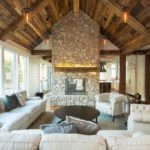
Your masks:
{"label": "wider left glass pane of the window behind the left sofa", "polygon": [[4,93],[14,91],[14,53],[4,50]]}

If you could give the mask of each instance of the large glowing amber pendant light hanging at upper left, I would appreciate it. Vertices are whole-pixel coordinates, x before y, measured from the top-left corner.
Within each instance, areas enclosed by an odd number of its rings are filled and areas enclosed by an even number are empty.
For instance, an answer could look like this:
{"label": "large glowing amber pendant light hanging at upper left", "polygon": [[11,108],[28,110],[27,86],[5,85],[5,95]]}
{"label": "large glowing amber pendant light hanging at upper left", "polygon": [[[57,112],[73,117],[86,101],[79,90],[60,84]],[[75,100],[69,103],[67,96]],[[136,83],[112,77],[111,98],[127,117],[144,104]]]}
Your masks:
{"label": "large glowing amber pendant light hanging at upper left", "polygon": [[29,0],[27,0],[27,7],[24,8],[24,18],[26,23],[29,23],[32,18],[31,8],[29,7]]}

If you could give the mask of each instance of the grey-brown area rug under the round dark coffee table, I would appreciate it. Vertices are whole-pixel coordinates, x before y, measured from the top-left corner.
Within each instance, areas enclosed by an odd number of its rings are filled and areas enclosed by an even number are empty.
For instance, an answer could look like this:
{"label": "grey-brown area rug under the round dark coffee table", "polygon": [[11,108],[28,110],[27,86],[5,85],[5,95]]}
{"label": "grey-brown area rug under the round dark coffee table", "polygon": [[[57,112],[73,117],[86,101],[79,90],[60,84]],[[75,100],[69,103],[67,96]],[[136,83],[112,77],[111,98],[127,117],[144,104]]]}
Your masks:
{"label": "grey-brown area rug under the round dark coffee table", "polygon": [[[54,117],[53,112],[42,113],[29,127],[29,129],[39,129],[42,124],[50,124],[60,121],[59,118]],[[102,114],[98,117],[98,125],[101,130],[126,130],[127,116],[118,116],[115,121],[112,121],[112,117],[107,114]]]}

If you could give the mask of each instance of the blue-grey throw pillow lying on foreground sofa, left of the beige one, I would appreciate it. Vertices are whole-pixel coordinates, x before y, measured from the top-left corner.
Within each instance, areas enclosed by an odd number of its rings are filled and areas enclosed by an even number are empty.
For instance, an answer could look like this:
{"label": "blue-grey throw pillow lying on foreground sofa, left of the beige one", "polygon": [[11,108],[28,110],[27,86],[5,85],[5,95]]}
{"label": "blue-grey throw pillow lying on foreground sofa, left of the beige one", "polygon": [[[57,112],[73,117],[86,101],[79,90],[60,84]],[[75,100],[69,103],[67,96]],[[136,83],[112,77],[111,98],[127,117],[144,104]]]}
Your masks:
{"label": "blue-grey throw pillow lying on foreground sofa, left of the beige one", "polygon": [[77,133],[76,126],[72,123],[44,124],[40,126],[41,134],[50,133]]}

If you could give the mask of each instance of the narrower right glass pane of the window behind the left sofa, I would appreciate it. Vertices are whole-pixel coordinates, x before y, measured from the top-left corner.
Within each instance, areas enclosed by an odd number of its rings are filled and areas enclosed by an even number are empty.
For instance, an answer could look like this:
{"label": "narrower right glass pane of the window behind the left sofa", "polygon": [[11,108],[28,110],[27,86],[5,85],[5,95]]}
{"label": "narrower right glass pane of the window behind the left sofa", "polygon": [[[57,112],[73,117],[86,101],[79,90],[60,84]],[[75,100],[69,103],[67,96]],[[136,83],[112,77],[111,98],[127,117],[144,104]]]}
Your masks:
{"label": "narrower right glass pane of the window behind the left sofa", "polygon": [[19,80],[19,90],[26,89],[26,58],[19,56],[19,66],[18,66],[18,80]]}

